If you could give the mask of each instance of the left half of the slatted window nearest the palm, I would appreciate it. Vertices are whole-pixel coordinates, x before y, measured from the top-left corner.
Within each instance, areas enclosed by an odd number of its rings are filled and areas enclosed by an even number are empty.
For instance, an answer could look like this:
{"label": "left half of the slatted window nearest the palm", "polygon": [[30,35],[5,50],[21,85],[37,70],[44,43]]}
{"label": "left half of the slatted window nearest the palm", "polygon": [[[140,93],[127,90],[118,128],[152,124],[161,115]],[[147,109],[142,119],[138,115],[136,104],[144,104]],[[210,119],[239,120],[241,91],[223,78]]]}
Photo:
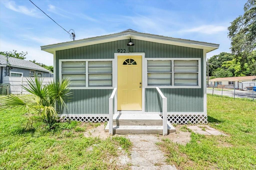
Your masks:
{"label": "left half of the slatted window nearest the palm", "polygon": [[70,86],[86,86],[86,62],[85,61],[68,61],[62,62],[61,65],[62,79],[69,79]]}

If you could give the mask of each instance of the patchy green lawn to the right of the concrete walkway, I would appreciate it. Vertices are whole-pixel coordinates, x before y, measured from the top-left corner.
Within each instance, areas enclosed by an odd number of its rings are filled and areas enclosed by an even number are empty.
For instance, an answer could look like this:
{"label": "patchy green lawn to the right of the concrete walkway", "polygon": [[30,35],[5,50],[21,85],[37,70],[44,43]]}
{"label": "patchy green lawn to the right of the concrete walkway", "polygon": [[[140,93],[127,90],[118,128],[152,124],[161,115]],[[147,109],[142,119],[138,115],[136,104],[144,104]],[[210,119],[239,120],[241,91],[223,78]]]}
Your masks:
{"label": "patchy green lawn to the right of the concrete walkway", "polygon": [[207,114],[209,125],[229,136],[192,132],[186,145],[163,139],[157,144],[166,161],[178,169],[256,169],[256,102],[207,94]]}

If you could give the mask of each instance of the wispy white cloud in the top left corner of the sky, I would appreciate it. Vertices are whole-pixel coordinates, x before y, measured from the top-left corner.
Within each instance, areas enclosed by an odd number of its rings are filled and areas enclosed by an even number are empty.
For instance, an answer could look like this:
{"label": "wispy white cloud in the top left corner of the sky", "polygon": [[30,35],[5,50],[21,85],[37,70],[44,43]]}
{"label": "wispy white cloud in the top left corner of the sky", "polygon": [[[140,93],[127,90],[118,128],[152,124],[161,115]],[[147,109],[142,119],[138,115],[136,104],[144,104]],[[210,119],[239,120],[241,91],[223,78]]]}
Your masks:
{"label": "wispy white cloud in the top left corner of the sky", "polygon": [[4,6],[8,9],[11,9],[13,11],[23,13],[25,15],[41,18],[41,16],[38,14],[35,8],[27,8],[26,6],[19,6],[16,5],[14,1],[2,1]]}

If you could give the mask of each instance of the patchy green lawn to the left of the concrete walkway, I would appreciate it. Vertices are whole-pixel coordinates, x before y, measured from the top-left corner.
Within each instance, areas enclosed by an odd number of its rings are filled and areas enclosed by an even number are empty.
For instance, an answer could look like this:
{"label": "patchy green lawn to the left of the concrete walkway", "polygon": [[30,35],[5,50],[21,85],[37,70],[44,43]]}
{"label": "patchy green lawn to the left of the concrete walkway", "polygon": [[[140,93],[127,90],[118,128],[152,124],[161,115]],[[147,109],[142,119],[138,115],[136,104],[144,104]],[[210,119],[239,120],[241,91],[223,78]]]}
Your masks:
{"label": "patchy green lawn to the left of the concrete walkway", "polygon": [[0,169],[127,168],[116,160],[119,147],[129,153],[129,139],[84,137],[84,131],[100,123],[65,122],[49,127],[35,122],[33,129],[26,129],[26,121],[24,112],[0,111]]}

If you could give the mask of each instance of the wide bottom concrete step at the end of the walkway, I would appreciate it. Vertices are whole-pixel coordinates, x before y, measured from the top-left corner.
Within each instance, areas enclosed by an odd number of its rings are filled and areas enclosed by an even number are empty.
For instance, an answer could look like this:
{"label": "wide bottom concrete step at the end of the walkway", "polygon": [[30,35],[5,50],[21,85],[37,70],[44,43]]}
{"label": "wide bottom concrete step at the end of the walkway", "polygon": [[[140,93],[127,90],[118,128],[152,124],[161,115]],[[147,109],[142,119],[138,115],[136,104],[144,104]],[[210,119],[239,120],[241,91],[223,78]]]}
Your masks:
{"label": "wide bottom concrete step at the end of the walkway", "polygon": [[[167,129],[168,133],[176,132],[176,129],[167,122]],[[109,131],[109,123],[106,125],[105,132]],[[148,125],[113,125],[113,133],[115,134],[122,134],[122,135],[127,135],[127,134],[163,134],[163,125],[153,125],[153,126],[148,126]]]}

